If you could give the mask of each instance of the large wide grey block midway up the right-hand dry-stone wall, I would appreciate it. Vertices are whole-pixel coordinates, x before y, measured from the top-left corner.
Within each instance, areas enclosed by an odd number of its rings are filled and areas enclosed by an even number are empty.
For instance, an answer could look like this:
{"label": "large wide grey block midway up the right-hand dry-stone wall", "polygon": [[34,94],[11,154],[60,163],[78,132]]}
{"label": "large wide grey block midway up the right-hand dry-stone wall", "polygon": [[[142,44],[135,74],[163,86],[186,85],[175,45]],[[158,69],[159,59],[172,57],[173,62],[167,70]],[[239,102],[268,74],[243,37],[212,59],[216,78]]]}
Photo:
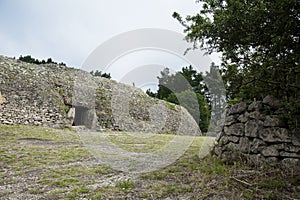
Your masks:
{"label": "large wide grey block midway up the right-hand dry-stone wall", "polygon": [[265,142],[290,142],[291,137],[287,129],[271,127],[263,128],[258,132],[259,137]]}

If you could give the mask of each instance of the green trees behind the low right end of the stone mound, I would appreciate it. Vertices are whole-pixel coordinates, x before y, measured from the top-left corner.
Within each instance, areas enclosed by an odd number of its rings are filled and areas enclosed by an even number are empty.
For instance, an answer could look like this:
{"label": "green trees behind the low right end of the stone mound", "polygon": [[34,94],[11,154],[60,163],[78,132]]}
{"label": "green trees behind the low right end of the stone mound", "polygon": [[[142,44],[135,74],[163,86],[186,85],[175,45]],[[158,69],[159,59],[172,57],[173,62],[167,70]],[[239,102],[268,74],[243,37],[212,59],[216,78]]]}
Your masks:
{"label": "green trees behind the low right end of the stone mound", "polygon": [[[157,93],[150,89],[146,93],[185,107],[199,123],[201,131],[207,132],[210,122],[209,91],[202,73],[198,73],[192,66],[183,67],[175,74],[171,74],[169,68],[165,68],[157,78],[159,81]],[[172,104],[168,106],[171,110],[175,110]]]}

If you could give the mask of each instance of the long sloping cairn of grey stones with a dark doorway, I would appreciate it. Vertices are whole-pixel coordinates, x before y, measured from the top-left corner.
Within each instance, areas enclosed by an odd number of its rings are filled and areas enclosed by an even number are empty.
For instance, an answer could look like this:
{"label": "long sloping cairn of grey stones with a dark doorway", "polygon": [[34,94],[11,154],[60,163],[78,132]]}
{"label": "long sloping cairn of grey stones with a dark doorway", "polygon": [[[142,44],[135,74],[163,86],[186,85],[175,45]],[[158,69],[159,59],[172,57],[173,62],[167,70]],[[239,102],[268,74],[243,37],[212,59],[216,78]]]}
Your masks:
{"label": "long sloping cairn of grey stones with a dark doorway", "polygon": [[[170,106],[141,89],[93,77],[80,69],[0,56],[0,85],[5,99],[0,124],[64,128],[75,118],[89,128],[201,135],[183,107]],[[72,107],[75,117],[68,113]]]}

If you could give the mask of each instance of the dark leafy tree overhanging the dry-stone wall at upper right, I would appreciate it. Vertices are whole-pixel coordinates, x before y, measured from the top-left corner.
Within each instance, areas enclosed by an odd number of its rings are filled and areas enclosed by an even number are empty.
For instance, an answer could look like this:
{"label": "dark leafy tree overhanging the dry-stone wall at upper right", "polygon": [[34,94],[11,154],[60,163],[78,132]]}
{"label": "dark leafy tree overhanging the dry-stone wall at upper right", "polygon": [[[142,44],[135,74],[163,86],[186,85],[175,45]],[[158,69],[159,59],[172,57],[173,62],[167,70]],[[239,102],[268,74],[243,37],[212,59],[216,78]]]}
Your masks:
{"label": "dark leafy tree overhanging the dry-stone wall at upper right", "polygon": [[[183,19],[175,12],[173,17],[185,27],[186,40],[194,48],[222,54],[228,99],[252,101],[272,95],[293,112],[300,95],[300,2],[197,2],[202,3],[199,13]],[[296,126],[299,115],[294,113]]]}

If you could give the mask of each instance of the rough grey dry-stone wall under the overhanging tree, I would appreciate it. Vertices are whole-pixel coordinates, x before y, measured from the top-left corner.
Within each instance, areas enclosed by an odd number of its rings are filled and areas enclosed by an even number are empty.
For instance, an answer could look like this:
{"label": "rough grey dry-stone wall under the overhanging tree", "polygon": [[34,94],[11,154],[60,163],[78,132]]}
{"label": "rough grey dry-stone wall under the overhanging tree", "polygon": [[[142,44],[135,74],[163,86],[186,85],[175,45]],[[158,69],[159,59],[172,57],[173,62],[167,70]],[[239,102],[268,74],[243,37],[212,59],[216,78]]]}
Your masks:
{"label": "rough grey dry-stone wall under the overhanging tree", "polygon": [[268,163],[300,171],[299,134],[287,129],[280,114],[276,114],[282,113],[281,107],[271,96],[250,105],[229,105],[214,153],[226,163],[246,158],[258,166]]}

